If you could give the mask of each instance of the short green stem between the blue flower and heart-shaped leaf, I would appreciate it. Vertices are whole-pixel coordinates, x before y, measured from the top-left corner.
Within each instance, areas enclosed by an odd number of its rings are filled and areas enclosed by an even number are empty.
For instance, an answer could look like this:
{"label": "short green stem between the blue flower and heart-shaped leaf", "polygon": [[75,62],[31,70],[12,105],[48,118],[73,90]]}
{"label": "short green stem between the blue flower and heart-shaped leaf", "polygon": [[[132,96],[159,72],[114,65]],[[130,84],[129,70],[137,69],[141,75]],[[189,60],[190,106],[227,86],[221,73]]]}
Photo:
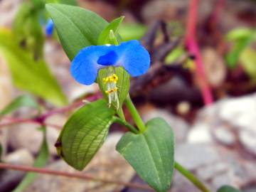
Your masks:
{"label": "short green stem between the blue flower and heart-shaped leaf", "polygon": [[125,105],[127,106],[127,109],[132,115],[132,119],[134,119],[135,124],[137,125],[139,132],[144,132],[146,129],[144,122],[142,121],[142,118],[139,116],[139,112],[137,111],[136,107],[134,106],[131,97],[129,95],[127,96],[126,100],[124,100]]}

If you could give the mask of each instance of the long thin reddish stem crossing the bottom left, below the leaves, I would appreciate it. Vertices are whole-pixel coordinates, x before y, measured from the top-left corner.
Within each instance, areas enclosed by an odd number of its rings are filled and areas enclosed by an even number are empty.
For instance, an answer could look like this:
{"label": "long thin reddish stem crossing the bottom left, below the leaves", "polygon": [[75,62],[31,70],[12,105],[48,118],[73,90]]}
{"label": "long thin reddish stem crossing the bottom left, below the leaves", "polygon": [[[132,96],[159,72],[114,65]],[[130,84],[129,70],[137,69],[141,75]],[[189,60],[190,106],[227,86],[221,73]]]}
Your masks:
{"label": "long thin reddish stem crossing the bottom left, below the leaves", "polygon": [[91,176],[88,174],[68,173],[64,171],[55,171],[55,170],[44,169],[44,168],[21,166],[21,165],[14,165],[14,164],[3,164],[3,163],[0,163],[0,169],[12,169],[17,171],[36,172],[40,174],[48,174],[53,176],[65,176],[68,178],[80,178],[85,180],[100,181],[102,183],[112,183],[120,186],[129,186],[131,188],[140,188],[140,189],[144,189],[144,190],[146,189],[146,190],[152,191],[152,189],[149,186],[144,186],[139,183],[128,183],[124,181],[111,180],[107,178],[97,178],[95,176]]}

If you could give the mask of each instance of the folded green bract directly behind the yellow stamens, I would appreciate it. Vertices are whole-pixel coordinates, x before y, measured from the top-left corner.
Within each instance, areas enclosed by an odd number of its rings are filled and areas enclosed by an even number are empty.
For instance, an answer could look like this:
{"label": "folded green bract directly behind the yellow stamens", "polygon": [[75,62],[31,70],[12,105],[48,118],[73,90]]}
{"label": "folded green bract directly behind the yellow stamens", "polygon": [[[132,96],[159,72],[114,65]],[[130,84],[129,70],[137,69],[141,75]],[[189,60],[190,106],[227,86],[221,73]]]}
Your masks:
{"label": "folded green bract directly behind the yellow stamens", "polygon": [[[122,103],[124,102],[129,92],[129,74],[122,67],[114,68],[114,70],[115,70],[114,73],[118,77],[117,95],[119,99],[119,108],[121,108]],[[105,98],[105,100],[108,100],[108,96],[105,93],[105,91],[107,90],[107,85],[103,82],[103,78],[106,78],[106,77],[107,77],[107,68],[100,69],[97,75],[97,83],[99,84],[103,97]],[[117,108],[117,103],[113,103],[113,107]]]}

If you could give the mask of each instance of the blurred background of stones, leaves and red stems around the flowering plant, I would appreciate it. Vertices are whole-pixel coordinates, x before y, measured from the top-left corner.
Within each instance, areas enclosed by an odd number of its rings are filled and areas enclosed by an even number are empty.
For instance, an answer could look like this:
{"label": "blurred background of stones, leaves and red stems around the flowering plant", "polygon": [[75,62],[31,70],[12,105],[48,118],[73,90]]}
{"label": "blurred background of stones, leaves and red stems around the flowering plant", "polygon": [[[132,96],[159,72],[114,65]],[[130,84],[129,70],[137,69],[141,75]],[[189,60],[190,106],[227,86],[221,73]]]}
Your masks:
{"label": "blurred background of stones, leaves and red stems around the flowering plant", "polygon": [[[82,99],[97,97],[99,90],[71,78],[70,60],[56,31],[46,36],[49,16],[37,2],[0,0],[0,110],[19,95],[29,95],[43,114],[52,112],[45,119],[50,151],[45,167],[75,173],[58,157],[54,144],[75,107]],[[176,160],[212,191],[224,184],[256,191],[256,1],[62,3],[95,11],[107,21],[125,16],[119,28],[123,41],[141,40],[151,54],[149,72],[132,79],[130,87],[143,119],[166,119],[176,135]],[[1,117],[1,161],[33,166],[43,141],[36,115],[28,105]],[[144,184],[114,150],[125,131],[114,124],[83,172]],[[13,190],[24,174],[1,170],[0,191]],[[148,190],[38,174],[23,191]],[[176,172],[171,191],[198,189]]]}

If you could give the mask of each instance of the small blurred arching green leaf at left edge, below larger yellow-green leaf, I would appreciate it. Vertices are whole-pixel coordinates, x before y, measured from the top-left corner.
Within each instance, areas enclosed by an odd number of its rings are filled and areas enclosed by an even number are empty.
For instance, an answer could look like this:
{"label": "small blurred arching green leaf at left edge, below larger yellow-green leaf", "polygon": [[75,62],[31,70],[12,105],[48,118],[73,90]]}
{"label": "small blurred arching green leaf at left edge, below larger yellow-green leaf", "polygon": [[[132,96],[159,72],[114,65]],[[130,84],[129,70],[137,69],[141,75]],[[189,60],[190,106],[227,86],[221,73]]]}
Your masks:
{"label": "small blurred arching green leaf at left edge, below larger yellow-green leaf", "polygon": [[21,95],[16,97],[9,105],[7,105],[4,110],[0,112],[1,115],[9,114],[10,112],[14,112],[20,107],[31,107],[39,110],[39,106],[35,100],[29,95]]}

